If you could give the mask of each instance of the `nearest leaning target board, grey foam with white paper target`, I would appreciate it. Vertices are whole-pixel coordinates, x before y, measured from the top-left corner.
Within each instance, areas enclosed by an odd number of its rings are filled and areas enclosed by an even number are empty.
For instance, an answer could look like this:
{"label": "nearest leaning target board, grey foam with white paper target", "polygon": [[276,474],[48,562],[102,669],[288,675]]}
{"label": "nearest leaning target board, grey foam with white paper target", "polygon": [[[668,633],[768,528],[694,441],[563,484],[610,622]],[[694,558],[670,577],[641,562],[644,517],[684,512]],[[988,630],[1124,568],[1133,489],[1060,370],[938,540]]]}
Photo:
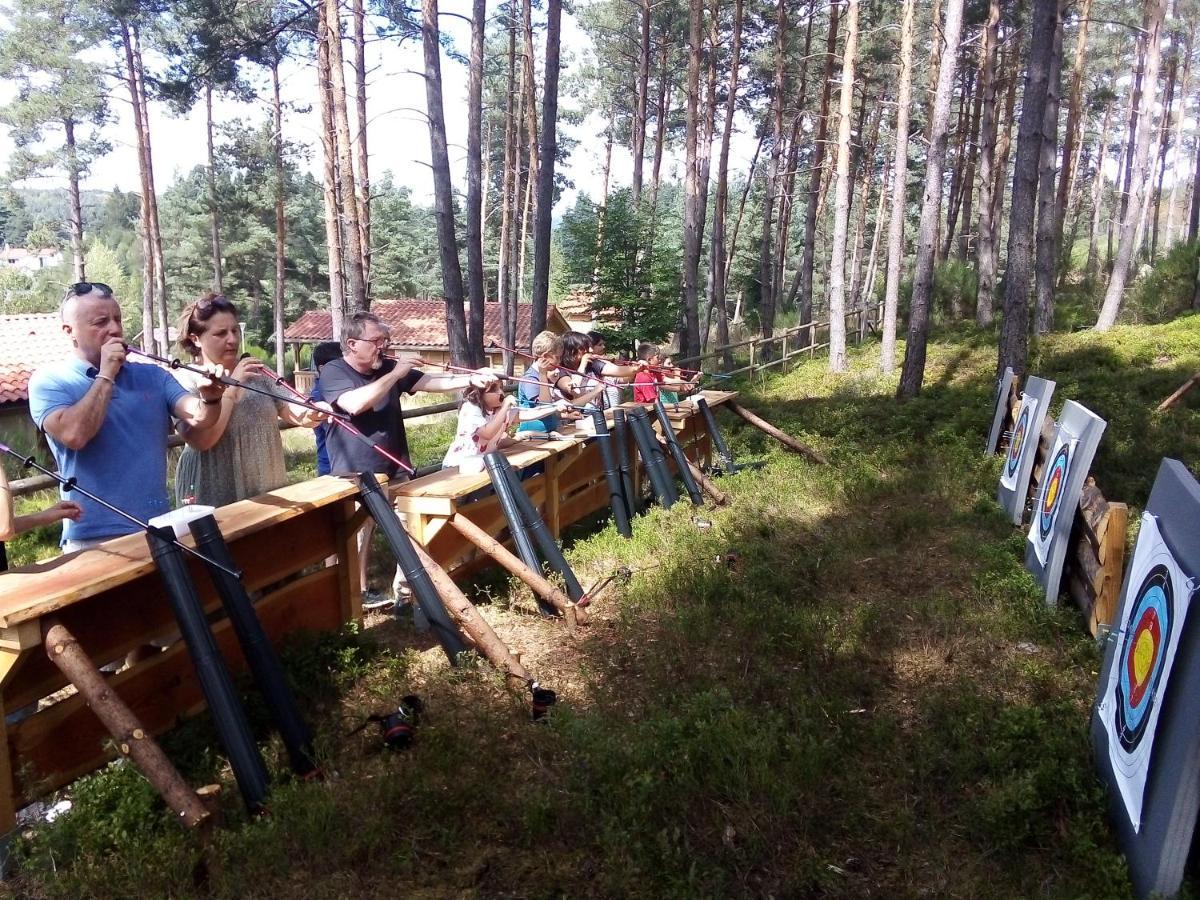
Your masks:
{"label": "nearest leaning target board, grey foam with white paper target", "polygon": [[1126,571],[1092,748],[1139,896],[1178,892],[1200,812],[1200,484],[1163,460]]}

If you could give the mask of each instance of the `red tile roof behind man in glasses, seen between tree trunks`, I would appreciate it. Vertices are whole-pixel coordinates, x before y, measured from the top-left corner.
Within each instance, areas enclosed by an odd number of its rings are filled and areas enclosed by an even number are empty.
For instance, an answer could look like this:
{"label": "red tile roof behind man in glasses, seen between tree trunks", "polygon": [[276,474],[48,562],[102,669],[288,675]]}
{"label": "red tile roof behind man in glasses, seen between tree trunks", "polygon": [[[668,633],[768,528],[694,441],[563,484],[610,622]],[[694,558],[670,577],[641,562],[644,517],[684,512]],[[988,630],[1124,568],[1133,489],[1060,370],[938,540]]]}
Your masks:
{"label": "red tile roof behind man in glasses, seen between tree trunks", "polygon": [[[443,300],[378,300],[371,312],[391,328],[391,342],[396,347],[446,348],[446,312]],[[517,305],[517,347],[528,347],[533,306]],[[553,307],[547,313],[547,328],[551,331],[568,331],[566,322]],[[487,304],[484,307],[484,343],[502,341],[500,305]],[[283,332],[284,341],[306,343],[310,341],[334,340],[332,317],[324,310],[310,310]]]}

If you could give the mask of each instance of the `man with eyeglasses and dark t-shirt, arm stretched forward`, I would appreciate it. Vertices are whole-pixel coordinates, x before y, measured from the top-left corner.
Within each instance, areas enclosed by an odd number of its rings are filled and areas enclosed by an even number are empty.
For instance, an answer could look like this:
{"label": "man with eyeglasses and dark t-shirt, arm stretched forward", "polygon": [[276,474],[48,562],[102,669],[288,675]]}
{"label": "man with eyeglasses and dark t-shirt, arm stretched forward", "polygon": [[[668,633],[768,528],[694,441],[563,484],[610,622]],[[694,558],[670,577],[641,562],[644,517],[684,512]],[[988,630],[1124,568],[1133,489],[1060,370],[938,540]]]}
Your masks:
{"label": "man with eyeglasses and dark t-shirt, arm stretched forward", "polygon": [[[401,415],[400,395],[418,391],[456,391],[472,385],[486,388],[496,380],[488,368],[472,374],[431,374],[414,366],[421,360],[394,360],[384,355],[391,332],[388,325],[368,312],[354,313],[342,328],[342,358],[326,362],[320,373],[320,392],[335,407],[350,416],[350,424],[379,444],[384,450],[412,466],[408,436]],[[325,436],[330,470],[335,475],[373,472],[389,479],[407,480],[408,473],[377,454],[342,428],[331,428]],[[391,601],[367,592],[367,564],[374,522],[367,521],[359,532],[359,577],[364,588],[364,608],[390,606]],[[397,568],[394,593],[402,598],[407,590],[403,574]]]}

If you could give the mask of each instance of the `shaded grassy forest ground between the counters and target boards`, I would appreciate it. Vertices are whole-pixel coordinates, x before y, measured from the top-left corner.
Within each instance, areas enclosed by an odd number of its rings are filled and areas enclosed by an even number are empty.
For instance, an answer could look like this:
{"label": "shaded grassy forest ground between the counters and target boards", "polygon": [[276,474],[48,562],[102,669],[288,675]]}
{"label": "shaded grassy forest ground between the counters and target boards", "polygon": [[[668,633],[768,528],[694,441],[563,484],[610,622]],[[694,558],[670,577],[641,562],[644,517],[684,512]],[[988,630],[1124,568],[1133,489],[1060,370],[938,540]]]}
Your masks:
{"label": "shaded grassy forest ground between the counters and target boards", "polygon": [[[294,646],[289,665],[331,778],[283,784],[202,851],[130,767],[72,790],[30,832],[35,896],[1123,896],[1129,887],[1087,745],[1100,655],[1046,610],[980,455],[995,341],[946,335],[898,406],[878,348],[832,379],[806,364],[745,401],[821,448],[817,468],[732,419],[734,498],[682,503],[570,548],[581,581],[632,581],[571,638],[528,593],[474,586],[524,664],[559,692],[545,726],[486,664],[449,670],[406,622]],[[1194,464],[1200,319],[1055,336],[1033,371],[1109,419],[1096,478],[1144,503],[1164,454]],[[1200,391],[1198,391],[1200,394]],[[402,754],[371,712],[416,692]],[[253,714],[264,720],[260,709]],[[227,778],[203,720],[168,752]],[[271,745],[272,754],[278,748]],[[278,762],[276,761],[276,766]]]}

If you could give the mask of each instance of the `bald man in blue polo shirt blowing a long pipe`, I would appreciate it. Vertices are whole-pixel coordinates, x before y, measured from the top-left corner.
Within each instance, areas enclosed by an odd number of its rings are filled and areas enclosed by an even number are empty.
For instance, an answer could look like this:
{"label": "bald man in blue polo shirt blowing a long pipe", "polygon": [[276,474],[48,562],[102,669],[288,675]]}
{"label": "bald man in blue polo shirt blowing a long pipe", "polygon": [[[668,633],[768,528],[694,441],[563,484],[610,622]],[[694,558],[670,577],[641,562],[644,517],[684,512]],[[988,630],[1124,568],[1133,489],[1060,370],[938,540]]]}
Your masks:
{"label": "bald man in blue polo shirt blowing a long pipe", "polygon": [[[37,370],[29,379],[29,412],[46,432],[65,478],[145,521],[170,510],[167,499],[167,437],[170,418],[180,428],[204,430],[221,418],[224,374],[188,394],[158,366],[126,365],[121,307],[107,284],[72,284],[62,300],[62,330],[74,353]],[[138,530],[115,512],[74,491],[62,492],[83,509],[62,527],[62,550],[72,552]]]}

